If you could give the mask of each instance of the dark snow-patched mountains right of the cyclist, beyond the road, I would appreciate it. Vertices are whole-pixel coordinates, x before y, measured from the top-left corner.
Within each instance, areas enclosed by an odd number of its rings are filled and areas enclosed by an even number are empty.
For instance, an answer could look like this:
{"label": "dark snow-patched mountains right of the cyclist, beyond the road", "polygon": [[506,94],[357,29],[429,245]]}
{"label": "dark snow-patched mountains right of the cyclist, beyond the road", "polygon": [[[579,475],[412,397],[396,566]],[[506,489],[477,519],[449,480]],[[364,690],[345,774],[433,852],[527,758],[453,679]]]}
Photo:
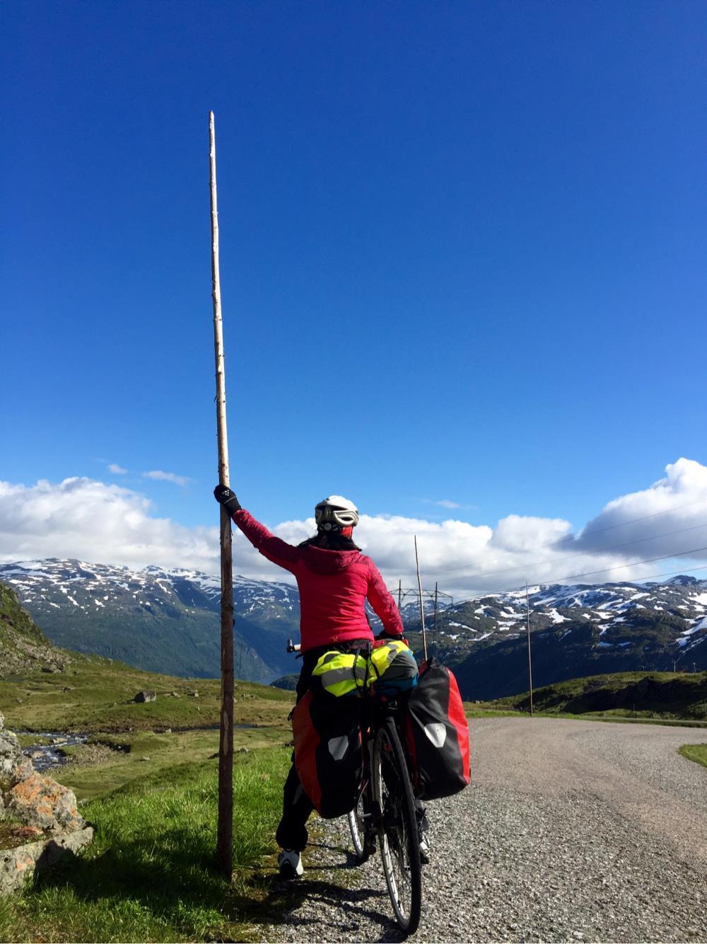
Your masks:
{"label": "dark snow-patched mountains right of the cyclist, beyond the road", "polygon": [[707,582],[535,585],[528,603],[523,589],[438,615],[440,657],[467,697],[527,690],[529,612],[535,686],[605,672],[707,669]]}

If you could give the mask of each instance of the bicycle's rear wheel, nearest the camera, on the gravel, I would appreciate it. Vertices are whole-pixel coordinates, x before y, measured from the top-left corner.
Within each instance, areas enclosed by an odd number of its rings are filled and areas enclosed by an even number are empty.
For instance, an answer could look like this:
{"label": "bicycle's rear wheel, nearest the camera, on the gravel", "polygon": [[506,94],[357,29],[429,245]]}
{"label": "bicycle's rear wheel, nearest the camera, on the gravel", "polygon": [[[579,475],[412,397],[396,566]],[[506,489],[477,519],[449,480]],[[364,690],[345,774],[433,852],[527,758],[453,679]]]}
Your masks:
{"label": "bicycle's rear wheel, nearest the camera, on the gravel", "polygon": [[378,841],[395,918],[406,934],[418,929],[422,868],[410,775],[395,727],[387,717],[373,744],[373,798],[380,811]]}

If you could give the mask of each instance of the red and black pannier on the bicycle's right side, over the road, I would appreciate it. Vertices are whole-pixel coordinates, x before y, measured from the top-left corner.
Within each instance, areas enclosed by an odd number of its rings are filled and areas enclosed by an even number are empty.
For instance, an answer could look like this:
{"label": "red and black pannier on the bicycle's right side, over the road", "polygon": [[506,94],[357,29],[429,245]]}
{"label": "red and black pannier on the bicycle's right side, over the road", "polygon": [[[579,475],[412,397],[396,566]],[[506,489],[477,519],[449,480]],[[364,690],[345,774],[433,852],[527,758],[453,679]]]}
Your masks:
{"label": "red and black pannier on the bicycle's right side, over the road", "polygon": [[452,672],[430,659],[407,698],[405,740],[415,796],[451,797],[469,786],[469,724]]}

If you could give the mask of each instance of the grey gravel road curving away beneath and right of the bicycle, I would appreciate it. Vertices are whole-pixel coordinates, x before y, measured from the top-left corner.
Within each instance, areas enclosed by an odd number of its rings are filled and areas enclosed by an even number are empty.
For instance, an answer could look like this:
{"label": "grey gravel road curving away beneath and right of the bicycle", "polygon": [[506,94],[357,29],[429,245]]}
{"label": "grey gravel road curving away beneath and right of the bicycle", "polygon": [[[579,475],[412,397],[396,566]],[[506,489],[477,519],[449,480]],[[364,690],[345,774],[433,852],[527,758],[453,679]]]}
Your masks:
{"label": "grey gravel road curving away beneath and right of the bicycle", "polygon": [[[707,730],[474,720],[472,786],[428,807],[422,941],[707,941]],[[319,828],[321,827],[321,828]],[[268,941],[394,941],[378,855],[317,824],[298,903]]]}

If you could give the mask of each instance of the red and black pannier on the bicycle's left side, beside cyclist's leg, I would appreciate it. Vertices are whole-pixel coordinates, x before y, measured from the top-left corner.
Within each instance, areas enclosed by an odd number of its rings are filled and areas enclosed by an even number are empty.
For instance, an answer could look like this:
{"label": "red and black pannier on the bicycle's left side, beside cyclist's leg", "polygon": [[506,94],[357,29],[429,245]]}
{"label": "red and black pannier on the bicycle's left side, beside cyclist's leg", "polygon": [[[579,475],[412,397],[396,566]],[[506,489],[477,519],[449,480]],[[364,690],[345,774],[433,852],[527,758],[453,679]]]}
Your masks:
{"label": "red and black pannier on the bicycle's left side, beside cyclist's leg", "polygon": [[292,715],[295,767],[324,819],[354,809],[361,786],[361,700],[310,689]]}

